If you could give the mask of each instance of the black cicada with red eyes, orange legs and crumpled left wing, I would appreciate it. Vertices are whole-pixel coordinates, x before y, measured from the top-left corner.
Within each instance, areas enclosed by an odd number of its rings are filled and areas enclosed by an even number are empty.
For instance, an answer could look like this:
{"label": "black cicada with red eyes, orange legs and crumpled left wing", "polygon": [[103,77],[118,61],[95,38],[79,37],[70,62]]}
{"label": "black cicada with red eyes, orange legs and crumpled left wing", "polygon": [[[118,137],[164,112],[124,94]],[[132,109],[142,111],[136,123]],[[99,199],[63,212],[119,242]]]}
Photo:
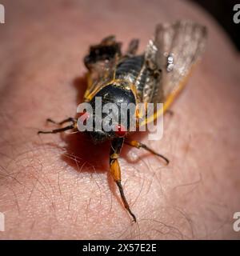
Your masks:
{"label": "black cicada with red eyes, orange legs and crumpled left wing", "polygon": [[[122,53],[122,44],[117,42],[114,36],[108,36],[100,43],[90,46],[89,53],[84,58],[87,68],[87,88],[84,102],[89,102],[93,109],[96,97],[102,98],[102,105],[114,103],[117,108],[120,108],[123,102],[133,103],[135,106],[134,117],[138,121],[140,120],[138,109],[140,103],[147,105],[150,102],[154,104],[162,102],[162,109],[154,110],[152,116],[138,122],[138,127],[154,122],[174,102],[186,84],[194,64],[201,57],[205,46],[206,27],[190,21],[164,23],[156,26],[154,38],[150,39],[142,54],[137,54],[138,39],[133,39],[126,52]],[[136,222],[136,217],[130,210],[122,189],[121,169],[118,163],[122,146],[126,144],[138,149],[142,148],[163,158],[166,163],[169,161],[145,144],[130,140],[128,136],[130,122],[126,122],[126,125],[123,126],[118,114],[115,114],[114,121],[111,121],[113,129],[108,131],[99,129],[99,126],[98,129],[96,128],[96,110],[91,114],[85,112],[84,115],[86,119],[94,120],[93,130],[86,131],[92,141],[94,143],[110,141],[110,174],[118,186],[126,210]],[[128,114],[125,118],[132,117]],[[54,122],[50,118],[47,120]],[[39,131],[38,134],[56,134],[65,130],[78,129],[77,118],[67,118],[62,122],[54,123],[61,126],[67,122],[69,122],[68,126]]]}

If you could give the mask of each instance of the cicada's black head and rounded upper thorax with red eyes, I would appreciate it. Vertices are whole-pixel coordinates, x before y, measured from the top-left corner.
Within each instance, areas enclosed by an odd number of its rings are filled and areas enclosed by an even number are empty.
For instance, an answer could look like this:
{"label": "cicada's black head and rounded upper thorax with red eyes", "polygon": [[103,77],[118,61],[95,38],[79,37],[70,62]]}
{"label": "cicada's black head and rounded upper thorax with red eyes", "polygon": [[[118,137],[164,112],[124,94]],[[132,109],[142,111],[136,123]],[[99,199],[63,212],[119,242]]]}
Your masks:
{"label": "cicada's black head and rounded upper thorax with red eyes", "polygon": [[93,129],[87,133],[94,143],[125,137],[128,134],[130,119],[134,118],[135,112],[135,97],[131,90],[114,84],[104,86],[92,98],[90,105],[93,110],[90,116]]}

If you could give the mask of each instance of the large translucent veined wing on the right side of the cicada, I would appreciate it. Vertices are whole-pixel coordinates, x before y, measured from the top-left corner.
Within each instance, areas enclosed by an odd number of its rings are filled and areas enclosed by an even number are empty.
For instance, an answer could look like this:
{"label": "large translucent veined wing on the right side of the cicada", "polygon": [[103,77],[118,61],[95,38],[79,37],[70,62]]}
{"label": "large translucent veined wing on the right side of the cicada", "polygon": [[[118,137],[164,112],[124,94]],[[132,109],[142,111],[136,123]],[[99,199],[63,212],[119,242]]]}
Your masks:
{"label": "large translucent veined wing on the right side of the cicada", "polygon": [[146,82],[143,99],[168,102],[185,84],[205,45],[205,26],[190,21],[159,24],[154,39],[146,46],[146,66],[152,75]]}

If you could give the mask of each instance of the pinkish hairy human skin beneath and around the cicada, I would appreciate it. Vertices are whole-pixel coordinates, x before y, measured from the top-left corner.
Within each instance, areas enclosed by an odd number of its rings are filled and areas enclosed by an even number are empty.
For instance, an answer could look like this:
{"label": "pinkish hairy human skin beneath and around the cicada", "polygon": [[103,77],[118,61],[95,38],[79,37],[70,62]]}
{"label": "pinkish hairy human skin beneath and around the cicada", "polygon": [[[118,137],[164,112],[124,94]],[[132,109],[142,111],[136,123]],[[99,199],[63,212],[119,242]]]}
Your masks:
{"label": "pinkish hairy human skin beneath and around the cicada", "polygon": [[[239,56],[226,34],[190,2],[2,1],[0,25],[0,211],[3,239],[240,238]],[[229,10],[230,11],[230,10]],[[82,101],[90,44],[108,34],[141,50],[158,22],[207,26],[202,62],[164,118],[159,141],[170,159],[125,146],[122,184],[138,222],[122,206],[108,171],[109,144],[82,134],[41,134],[46,118],[74,116]]]}

